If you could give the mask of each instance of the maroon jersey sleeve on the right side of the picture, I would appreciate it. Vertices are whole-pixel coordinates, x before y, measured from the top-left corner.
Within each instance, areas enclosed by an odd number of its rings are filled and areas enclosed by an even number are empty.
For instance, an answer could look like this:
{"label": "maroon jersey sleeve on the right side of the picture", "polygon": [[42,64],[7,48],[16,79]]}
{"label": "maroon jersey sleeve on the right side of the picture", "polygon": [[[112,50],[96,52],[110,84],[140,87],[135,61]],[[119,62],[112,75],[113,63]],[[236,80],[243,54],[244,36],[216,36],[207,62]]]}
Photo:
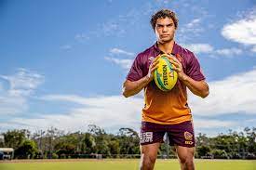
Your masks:
{"label": "maroon jersey sleeve on the right side of the picture", "polygon": [[196,59],[193,53],[190,54],[191,59],[187,63],[187,75],[193,78],[195,81],[205,80],[206,77],[203,74],[198,59]]}

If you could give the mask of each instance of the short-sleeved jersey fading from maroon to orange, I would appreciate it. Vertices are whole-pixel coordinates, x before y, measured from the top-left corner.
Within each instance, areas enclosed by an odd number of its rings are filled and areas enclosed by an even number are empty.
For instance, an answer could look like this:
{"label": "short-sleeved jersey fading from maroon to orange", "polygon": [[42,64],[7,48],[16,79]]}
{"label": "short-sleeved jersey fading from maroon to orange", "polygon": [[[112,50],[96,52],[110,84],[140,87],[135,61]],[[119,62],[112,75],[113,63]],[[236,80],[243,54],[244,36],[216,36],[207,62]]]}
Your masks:
{"label": "short-sleeved jersey fading from maroon to orange", "polygon": [[[163,52],[156,46],[149,47],[141,52],[134,60],[127,80],[137,81],[148,74],[151,62]],[[172,55],[179,56],[183,72],[195,81],[204,80],[198,60],[195,55],[174,43]],[[168,92],[161,91],[152,81],[144,88],[145,105],[142,109],[142,121],[155,124],[180,124],[192,119],[190,108],[187,104],[186,86],[181,81]]]}

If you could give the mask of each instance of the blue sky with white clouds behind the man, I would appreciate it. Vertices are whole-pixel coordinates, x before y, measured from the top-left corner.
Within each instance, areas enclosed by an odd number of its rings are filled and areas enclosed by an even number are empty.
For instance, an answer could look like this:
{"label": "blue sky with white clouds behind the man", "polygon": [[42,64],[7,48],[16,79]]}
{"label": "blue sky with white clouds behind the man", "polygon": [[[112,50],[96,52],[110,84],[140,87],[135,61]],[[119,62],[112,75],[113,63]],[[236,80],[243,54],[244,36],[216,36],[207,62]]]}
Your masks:
{"label": "blue sky with white clouds behind the man", "polygon": [[0,132],[138,130],[143,95],[123,98],[121,86],[136,54],[155,43],[149,20],[160,8],[177,13],[176,42],[195,53],[209,82],[208,98],[189,94],[195,133],[253,126],[255,3],[0,0]]}

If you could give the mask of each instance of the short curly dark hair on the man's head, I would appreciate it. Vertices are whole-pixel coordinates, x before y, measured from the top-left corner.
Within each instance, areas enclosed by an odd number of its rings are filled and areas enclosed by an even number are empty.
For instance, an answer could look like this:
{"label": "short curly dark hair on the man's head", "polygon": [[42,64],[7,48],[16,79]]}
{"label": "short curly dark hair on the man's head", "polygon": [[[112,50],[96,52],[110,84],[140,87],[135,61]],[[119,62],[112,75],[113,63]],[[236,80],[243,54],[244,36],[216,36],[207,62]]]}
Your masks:
{"label": "short curly dark hair on the man's head", "polygon": [[169,9],[161,9],[161,10],[158,10],[152,17],[151,17],[151,20],[150,20],[150,23],[151,23],[151,26],[153,28],[153,30],[155,31],[155,23],[156,23],[156,20],[157,19],[165,19],[165,18],[169,18],[169,19],[172,19],[173,22],[174,22],[174,26],[175,26],[175,29],[178,28],[178,18],[176,17],[176,14],[169,10]]}

